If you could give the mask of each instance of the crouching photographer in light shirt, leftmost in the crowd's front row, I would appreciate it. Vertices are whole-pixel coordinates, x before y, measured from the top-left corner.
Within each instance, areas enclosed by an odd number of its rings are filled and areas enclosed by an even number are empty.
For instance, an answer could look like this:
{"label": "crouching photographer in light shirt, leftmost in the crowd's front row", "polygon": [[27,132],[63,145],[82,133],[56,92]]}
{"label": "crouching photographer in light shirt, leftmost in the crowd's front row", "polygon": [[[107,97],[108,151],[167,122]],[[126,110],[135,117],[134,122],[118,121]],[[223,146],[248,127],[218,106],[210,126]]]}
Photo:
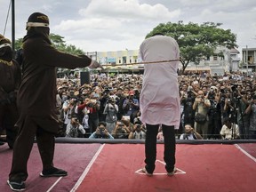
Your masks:
{"label": "crouching photographer in light shirt, leftmost in the crowd's front row", "polygon": [[66,137],[78,138],[78,137],[84,137],[84,134],[85,134],[84,128],[81,124],[79,124],[79,121],[76,118],[76,116],[72,117],[70,123],[67,125]]}

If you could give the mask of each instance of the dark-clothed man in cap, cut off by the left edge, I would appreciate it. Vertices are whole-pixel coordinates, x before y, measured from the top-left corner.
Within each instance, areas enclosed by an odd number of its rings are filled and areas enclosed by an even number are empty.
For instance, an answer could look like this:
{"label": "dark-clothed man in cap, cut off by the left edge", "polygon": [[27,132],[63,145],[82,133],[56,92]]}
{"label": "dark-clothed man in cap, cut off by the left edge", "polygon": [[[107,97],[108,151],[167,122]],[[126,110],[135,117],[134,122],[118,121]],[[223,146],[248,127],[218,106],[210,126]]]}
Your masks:
{"label": "dark-clothed man in cap, cut off by the left edge", "polygon": [[17,136],[14,124],[19,116],[16,94],[20,86],[20,76],[20,66],[12,60],[11,42],[0,35],[0,132],[6,132],[9,148],[13,147]]}

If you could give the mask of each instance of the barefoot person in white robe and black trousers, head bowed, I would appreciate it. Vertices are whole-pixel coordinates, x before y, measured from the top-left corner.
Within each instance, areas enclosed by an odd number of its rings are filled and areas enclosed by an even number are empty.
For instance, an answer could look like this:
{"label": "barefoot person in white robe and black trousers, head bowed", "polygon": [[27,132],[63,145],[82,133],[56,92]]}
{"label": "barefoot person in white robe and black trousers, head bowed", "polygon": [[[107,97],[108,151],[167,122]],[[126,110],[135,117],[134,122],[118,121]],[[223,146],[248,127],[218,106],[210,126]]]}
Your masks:
{"label": "barefoot person in white robe and black trousers, head bowed", "polygon": [[[180,125],[177,73],[180,60],[179,45],[170,36],[156,34],[140,44],[140,57],[143,62],[148,62],[144,65],[140,92],[140,120],[146,124],[147,128],[146,165],[142,171],[151,175],[155,170],[156,135],[161,124],[164,133],[165,169],[168,175],[173,175],[176,149],[174,129],[179,128]],[[166,62],[163,62],[164,60]]]}

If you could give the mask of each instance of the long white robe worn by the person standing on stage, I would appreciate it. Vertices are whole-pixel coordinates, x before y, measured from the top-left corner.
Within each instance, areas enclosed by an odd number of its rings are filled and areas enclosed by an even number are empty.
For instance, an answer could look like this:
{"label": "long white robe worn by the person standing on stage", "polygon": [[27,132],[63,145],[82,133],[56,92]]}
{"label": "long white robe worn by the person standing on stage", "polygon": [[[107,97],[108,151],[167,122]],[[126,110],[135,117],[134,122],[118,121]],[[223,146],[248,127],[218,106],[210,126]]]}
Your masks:
{"label": "long white robe worn by the person standing on stage", "polygon": [[[179,60],[177,42],[170,36],[152,36],[140,44],[144,62]],[[180,125],[179,61],[145,64],[140,92],[140,119],[146,124]]]}

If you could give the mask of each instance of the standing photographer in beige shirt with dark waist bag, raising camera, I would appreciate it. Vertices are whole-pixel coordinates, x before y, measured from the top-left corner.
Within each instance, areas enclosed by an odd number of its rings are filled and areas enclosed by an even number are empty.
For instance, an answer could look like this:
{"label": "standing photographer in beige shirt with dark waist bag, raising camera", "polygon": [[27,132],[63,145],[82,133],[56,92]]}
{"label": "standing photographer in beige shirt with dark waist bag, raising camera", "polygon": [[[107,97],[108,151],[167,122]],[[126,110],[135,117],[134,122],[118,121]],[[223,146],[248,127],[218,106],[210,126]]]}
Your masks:
{"label": "standing photographer in beige shirt with dark waist bag, raising camera", "polygon": [[[208,134],[208,110],[211,107],[211,102],[204,96],[203,91],[198,91],[196,100],[193,104],[193,109],[196,111],[195,129],[196,132],[203,134],[204,140],[207,139]],[[198,118],[197,118],[198,117]]]}

